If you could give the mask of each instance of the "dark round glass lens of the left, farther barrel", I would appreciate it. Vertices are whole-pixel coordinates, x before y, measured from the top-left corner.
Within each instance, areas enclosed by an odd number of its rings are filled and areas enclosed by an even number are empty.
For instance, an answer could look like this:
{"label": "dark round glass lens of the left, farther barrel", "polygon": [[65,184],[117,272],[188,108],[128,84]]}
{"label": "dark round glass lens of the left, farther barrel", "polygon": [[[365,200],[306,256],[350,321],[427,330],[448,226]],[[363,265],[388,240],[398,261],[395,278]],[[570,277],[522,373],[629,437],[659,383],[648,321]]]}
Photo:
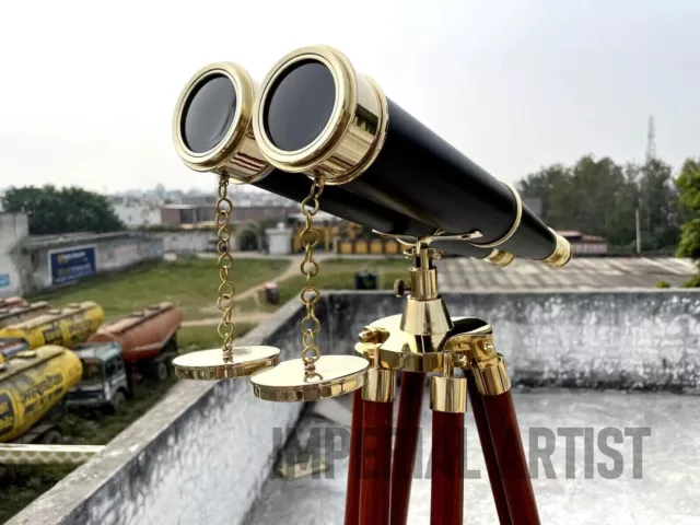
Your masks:
{"label": "dark round glass lens of the left, farther barrel", "polygon": [[231,128],[236,113],[236,90],[223,74],[205,79],[189,93],[180,132],[185,145],[195,153],[217,147]]}

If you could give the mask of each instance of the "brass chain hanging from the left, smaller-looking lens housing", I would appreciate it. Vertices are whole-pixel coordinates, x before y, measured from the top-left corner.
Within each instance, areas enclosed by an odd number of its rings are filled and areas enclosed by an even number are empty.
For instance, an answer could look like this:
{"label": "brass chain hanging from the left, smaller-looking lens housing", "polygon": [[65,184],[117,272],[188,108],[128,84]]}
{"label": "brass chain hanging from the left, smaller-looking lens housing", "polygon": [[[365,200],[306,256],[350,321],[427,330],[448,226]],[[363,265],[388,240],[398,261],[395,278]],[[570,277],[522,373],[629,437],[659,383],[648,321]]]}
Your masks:
{"label": "brass chain hanging from the left, smaller-looking lens housing", "polygon": [[233,361],[233,322],[231,320],[233,313],[233,294],[235,288],[229,280],[229,272],[233,265],[231,257],[231,211],[233,202],[228,196],[229,176],[221,175],[219,178],[219,198],[217,199],[217,252],[219,253],[219,298],[217,299],[217,307],[222,313],[221,323],[217,331],[223,340],[223,361],[230,363]]}

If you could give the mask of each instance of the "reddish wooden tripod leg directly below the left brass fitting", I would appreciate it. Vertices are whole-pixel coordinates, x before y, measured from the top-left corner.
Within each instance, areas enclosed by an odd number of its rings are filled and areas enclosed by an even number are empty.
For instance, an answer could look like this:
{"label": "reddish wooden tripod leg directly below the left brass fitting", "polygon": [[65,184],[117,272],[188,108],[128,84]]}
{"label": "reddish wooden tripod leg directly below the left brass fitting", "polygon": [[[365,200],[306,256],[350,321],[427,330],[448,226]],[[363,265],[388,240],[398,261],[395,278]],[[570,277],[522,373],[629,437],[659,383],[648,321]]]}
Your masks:
{"label": "reddish wooden tripod leg directly below the left brass fitting", "polygon": [[363,400],[360,525],[388,525],[394,402]]}

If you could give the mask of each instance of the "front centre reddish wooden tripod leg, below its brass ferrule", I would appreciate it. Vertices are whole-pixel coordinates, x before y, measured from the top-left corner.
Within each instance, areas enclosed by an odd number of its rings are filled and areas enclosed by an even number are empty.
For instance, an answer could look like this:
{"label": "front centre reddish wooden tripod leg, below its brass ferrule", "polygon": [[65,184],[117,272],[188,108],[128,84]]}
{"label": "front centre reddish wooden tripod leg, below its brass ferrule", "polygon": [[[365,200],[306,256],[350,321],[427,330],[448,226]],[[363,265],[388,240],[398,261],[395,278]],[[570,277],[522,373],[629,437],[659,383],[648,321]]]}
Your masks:
{"label": "front centre reddish wooden tripod leg, below its brass ferrule", "polygon": [[433,411],[431,525],[462,525],[464,413]]}

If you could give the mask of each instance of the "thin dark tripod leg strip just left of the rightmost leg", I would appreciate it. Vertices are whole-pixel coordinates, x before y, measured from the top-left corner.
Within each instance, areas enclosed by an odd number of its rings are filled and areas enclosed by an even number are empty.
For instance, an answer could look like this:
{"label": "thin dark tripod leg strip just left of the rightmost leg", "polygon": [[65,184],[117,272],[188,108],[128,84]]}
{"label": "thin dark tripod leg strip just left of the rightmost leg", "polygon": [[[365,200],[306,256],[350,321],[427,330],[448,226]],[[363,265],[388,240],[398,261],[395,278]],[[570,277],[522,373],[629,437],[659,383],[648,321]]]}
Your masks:
{"label": "thin dark tripod leg strip just left of the rightmost leg", "polygon": [[471,402],[471,410],[474,411],[474,420],[477,424],[477,431],[479,432],[479,442],[481,443],[481,451],[483,452],[486,469],[489,474],[489,482],[491,483],[491,492],[493,493],[493,502],[495,503],[495,512],[499,515],[499,523],[501,525],[511,525],[513,521],[511,520],[511,513],[508,509],[501,470],[499,469],[499,464],[495,458],[495,448],[491,440],[491,430],[486,417],[486,408],[483,407],[483,396],[481,396],[481,393],[477,388],[471,372],[467,372],[467,392],[469,393],[469,401]]}

